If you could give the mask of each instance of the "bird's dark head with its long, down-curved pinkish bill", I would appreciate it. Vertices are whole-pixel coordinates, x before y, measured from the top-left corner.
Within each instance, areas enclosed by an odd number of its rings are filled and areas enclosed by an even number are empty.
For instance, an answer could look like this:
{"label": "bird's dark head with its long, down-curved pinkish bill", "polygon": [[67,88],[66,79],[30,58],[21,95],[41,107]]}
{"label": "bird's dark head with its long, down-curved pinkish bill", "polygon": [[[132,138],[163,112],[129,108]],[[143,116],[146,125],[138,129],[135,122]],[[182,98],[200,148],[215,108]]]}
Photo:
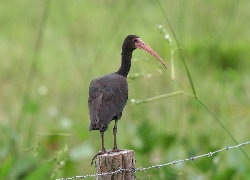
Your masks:
{"label": "bird's dark head with its long, down-curved pinkish bill", "polygon": [[147,44],[145,44],[140,37],[138,37],[137,35],[128,35],[124,40],[123,49],[133,51],[137,48],[142,49],[152,56],[156,57],[163,64],[163,66],[167,68],[161,57],[156,52],[154,52]]}

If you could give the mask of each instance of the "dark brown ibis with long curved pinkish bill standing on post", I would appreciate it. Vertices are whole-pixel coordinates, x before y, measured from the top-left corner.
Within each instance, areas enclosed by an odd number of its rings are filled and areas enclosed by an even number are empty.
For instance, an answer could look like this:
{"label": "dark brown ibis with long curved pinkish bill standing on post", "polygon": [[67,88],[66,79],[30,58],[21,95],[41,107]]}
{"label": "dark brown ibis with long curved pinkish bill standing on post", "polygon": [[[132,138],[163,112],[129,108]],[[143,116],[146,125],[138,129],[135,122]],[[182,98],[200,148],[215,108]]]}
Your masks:
{"label": "dark brown ibis with long curved pinkish bill standing on post", "polygon": [[163,60],[138,36],[128,35],[122,45],[122,60],[119,70],[91,81],[88,100],[91,120],[89,130],[100,130],[101,132],[102,150],[100,154],[106,153],[104,132],[112,120],[115,120],[113,152],[119,151],[116,144],[117,120],[121,118],[123,108],[128,100],[127,75],[131,67],[132,53],[136,48],[147,51],[166,68]]}

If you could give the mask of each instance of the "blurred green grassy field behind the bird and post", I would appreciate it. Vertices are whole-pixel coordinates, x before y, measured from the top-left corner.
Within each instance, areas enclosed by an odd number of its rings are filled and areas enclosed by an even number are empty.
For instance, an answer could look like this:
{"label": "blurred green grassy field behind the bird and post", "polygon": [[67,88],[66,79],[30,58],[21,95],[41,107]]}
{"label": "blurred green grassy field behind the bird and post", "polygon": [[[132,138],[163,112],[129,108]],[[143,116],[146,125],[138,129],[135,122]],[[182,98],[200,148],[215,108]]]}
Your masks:
{"label": "blurred green grassy field behind the bird and post", "polygon": [[[133,54],[129,101],[118,123],[118,147],[136,153],[136,167],[163,164],[235,145],[192,94],[180,42],[198,97],[238,142],[249,141],[250,1],[44,0],[0,3],[0,179],[55,179],[94,174],[101,148],[88,131],[88,86],[120,65],[121,45],[136,34],[166,62]],[[162,9],[161,9],[162,8]],[[170,52],[174,52],[171,56]],[[175,59],[175,79],[170,59]],[[113,146],[113,122],[105,133]],[[250,147],[244,150],[250,156]],[[247,179],[250,161],[238,149],[138,172],[137,179]]]}

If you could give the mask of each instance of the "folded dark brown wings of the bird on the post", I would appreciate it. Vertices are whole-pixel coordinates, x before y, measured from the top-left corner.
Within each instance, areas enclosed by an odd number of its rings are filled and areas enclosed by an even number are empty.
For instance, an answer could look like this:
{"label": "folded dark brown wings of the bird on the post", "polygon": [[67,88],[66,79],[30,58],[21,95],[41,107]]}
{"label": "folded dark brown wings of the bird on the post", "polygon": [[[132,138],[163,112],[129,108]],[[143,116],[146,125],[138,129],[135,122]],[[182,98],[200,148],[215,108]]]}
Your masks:
{"label": "folded dark brown wings of the bird on the post", "polygon": [[88,102],[91,119],[89,129],[105,131],[112,119],[120,118],[127,99],[126,81],[112,79],[104,85],[95,81],[91,82]]}

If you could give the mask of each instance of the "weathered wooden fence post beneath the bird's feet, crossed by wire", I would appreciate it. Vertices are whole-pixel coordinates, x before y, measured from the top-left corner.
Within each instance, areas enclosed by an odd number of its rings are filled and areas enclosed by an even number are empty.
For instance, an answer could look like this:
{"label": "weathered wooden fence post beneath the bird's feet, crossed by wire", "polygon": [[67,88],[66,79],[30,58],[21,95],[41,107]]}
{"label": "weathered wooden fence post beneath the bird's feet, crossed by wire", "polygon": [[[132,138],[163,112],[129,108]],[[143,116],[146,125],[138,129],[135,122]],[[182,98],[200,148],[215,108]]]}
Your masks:
{"label": "weathered wooden fence post beneath the bird's feet, crossed by wire", "polygon": [[[122,169],[132,170],[135,168],[135,153],[132,150],[110,152],[96,157],[96,173],[108,173]],[[111,175],[97,176],[97,180],[134,180],[133,171],[121,171]]]}

